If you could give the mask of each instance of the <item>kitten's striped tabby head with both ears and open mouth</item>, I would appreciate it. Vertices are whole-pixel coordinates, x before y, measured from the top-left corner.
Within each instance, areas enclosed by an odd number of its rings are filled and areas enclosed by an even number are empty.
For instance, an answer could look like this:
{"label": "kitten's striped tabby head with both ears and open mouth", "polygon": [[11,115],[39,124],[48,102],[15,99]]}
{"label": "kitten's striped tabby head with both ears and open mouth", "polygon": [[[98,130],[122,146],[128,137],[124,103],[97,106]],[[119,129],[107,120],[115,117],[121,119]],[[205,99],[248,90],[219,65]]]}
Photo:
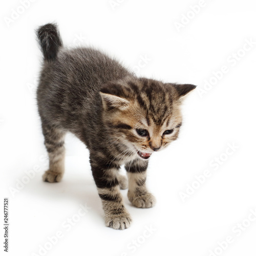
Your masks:
{"label": "kitten's striped tabby head with both ears and open mouth", "polygon": [[103,121],[111,136],[142,159],[177,139],[184,96],[196,86],[139,78],[105,84]]}

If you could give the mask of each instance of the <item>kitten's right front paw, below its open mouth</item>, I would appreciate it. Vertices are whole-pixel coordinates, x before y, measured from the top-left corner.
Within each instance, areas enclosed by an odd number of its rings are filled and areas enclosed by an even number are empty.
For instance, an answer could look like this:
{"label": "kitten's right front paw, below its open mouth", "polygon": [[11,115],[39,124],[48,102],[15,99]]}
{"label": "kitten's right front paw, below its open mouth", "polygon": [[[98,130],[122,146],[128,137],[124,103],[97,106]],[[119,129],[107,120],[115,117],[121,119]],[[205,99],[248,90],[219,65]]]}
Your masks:
{"label": "kitten's right front paw, below its open mouth", "polygon": [[156,204],[156,198],[149,192],[139,196],[128,191],[128,198],[138,208],[150,208]]}

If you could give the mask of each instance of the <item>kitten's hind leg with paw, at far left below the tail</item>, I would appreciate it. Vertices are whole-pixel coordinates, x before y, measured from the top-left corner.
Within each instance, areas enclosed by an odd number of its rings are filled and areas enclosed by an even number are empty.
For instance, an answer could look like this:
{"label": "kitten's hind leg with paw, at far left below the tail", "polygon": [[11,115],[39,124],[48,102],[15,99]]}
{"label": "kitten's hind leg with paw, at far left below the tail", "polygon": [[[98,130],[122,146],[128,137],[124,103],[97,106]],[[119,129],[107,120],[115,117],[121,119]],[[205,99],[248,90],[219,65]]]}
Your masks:
{"label": "kitten's hind leg with paw, at far left below the tail", "polygon": [[65,132],[44,124],[42,124],[42,132],[45,136],[45,146],[49,156],[49,169],[42,179],[47,182],[59,182],[64,174]]}

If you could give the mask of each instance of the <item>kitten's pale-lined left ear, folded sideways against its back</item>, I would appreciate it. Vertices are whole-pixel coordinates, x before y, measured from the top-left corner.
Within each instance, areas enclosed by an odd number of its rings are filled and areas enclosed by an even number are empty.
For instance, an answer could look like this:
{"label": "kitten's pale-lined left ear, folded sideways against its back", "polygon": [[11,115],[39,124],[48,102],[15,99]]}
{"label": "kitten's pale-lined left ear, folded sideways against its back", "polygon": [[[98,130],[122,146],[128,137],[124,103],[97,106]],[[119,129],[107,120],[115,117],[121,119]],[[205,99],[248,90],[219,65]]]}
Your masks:
{"label": "kitten's pale-lined left ear, folded sideways against its back", "polygon": [[119,110],[124,110],[129,105],[129,100],[124,98],[100,92],[100,96],[102,99],[103,109],[109,110],[113,108],[117,108]]}

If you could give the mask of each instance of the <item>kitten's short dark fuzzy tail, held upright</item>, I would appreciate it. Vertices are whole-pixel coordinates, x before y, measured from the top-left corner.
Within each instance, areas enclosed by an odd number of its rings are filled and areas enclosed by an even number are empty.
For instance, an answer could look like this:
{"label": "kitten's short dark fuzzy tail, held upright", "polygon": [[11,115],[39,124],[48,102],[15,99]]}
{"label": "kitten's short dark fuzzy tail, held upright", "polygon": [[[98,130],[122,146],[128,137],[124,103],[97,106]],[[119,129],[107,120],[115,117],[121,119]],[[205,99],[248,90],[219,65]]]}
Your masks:
{"label": "kitten's short dark fuzzy tail, held upright", "polygon": [[56,24],[48,23],[37,29],[36,35],[41,46],[42,54],[47,61],[54,61],[57,58],[62,41]]}

